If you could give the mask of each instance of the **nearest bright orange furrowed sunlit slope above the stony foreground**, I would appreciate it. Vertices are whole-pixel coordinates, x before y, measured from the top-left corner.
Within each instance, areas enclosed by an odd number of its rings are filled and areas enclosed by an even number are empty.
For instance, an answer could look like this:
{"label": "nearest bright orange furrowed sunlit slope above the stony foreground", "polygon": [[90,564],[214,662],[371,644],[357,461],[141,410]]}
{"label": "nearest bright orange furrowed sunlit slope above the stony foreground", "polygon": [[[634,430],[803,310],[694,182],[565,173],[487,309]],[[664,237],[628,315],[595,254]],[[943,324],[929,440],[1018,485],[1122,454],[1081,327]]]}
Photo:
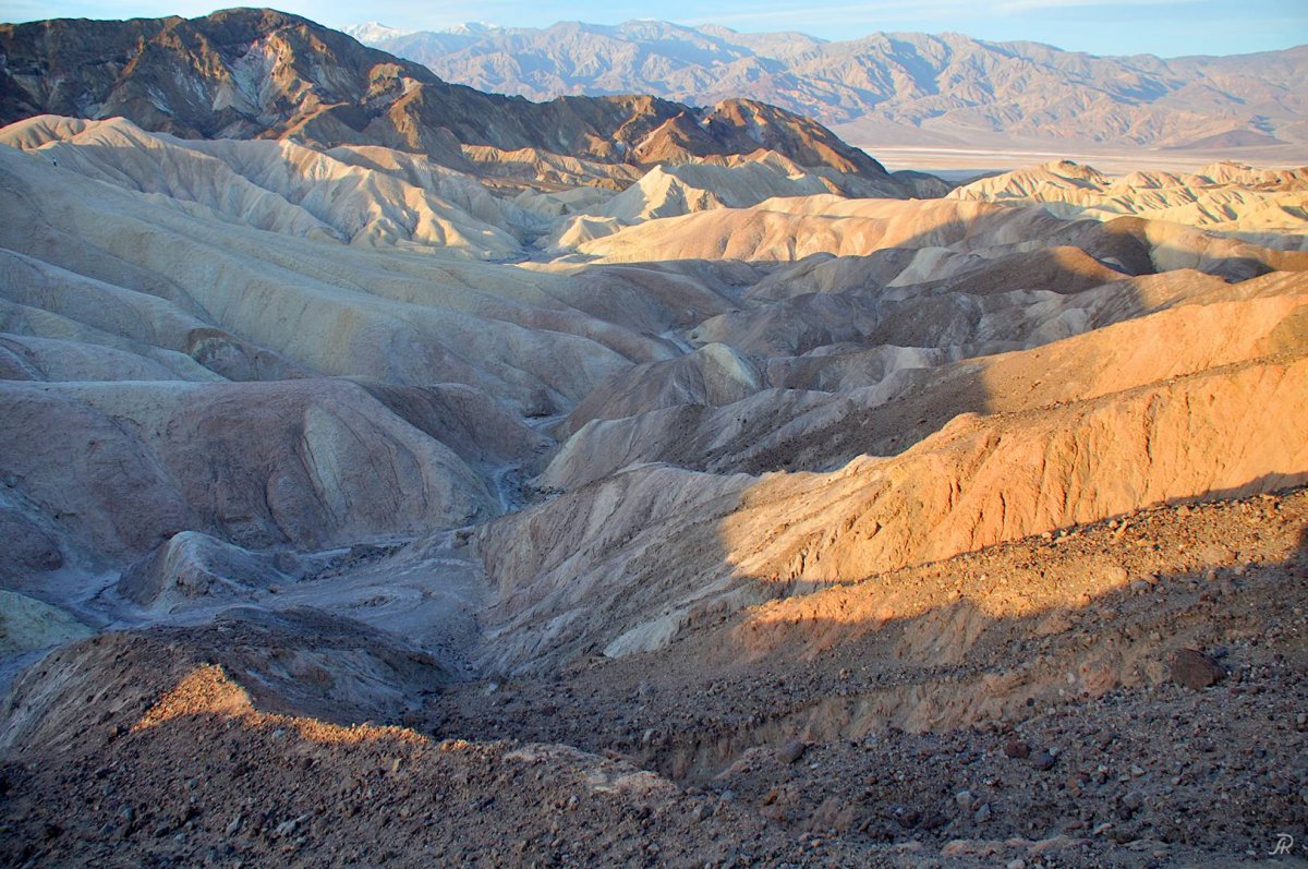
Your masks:
{"label": "nearest bright orange furrowed sunlit slope above the stony foreground", "polygon": [[[1133,504],[1301,484],[1305,383],[1308,363],[1260,364],[1039,416],[961,417],[895,459],[764,482],[722,526],[727,558],[748,576],[852,580]],[[785,530],[759,546],[764,526]]]}

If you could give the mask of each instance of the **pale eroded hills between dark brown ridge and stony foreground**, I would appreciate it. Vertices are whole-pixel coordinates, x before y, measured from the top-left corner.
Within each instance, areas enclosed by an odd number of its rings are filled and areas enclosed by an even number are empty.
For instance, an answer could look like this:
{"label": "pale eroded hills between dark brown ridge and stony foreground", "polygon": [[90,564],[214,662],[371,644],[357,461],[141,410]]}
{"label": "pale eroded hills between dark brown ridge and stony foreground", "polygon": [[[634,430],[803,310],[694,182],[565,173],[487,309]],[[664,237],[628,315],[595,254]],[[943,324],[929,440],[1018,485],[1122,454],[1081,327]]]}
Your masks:
{"label": "pale eroded hills between dark brown ridge and stony foreground", "polygon": [[500,186],[122,120],[0,137],[0,576],[75,616],[311,605],[544,671],[1308,474],[1296,243],[1040,192],[1172,178],[904,202],[769,153],[470,149]]}

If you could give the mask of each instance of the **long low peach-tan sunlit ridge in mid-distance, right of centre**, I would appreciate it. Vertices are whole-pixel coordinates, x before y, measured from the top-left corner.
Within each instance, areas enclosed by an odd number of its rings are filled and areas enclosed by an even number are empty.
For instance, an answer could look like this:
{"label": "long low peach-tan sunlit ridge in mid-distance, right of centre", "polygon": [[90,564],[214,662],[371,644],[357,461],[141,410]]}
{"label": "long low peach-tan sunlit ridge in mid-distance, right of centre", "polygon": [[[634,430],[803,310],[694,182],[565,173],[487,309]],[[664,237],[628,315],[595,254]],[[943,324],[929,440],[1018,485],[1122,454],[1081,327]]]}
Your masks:
{"label": "long low peach-tan sunlit ridge in mid-distance, right of centre", "polygon": [[[897,268],[892,280],[899,283],[934,280],[942,262],[960,253],[994,258],[1048,246],[1076,246],[1130,274],[1139,274],[1141,253],[1148,258],[1148,271],[1199,268],[1232,279],[1308,267],[1304,253],[1294,250],[1296,241],[1269,249],[1260,236],[1245,241],[1237,233],[1215,234],[1164,220],[1103,217],[1110,222],[1066,221],[1031,203],[1006,207],[964,199],[905,203],[818,195],[651,220],[612,234],[600,236],[607,232],[602,229],[577,250],[598,262],[727,258],[790,263],[816,254],[880,253],[874,258],[876,271]],[[906,262],[906,254],[882,253],[895,249],[917,253]]]}

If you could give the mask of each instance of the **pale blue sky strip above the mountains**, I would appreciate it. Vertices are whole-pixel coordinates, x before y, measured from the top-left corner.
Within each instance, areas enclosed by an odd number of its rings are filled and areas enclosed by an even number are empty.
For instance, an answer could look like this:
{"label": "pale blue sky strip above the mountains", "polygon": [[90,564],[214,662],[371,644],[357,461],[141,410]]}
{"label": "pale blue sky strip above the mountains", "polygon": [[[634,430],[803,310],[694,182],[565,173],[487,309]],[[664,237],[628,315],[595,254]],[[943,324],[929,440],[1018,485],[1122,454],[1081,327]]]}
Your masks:
{"label": "pale blue sky strip above the mountains", "polygon": [[[271,4],[340,27],[379,21],[404,30],[433,30],[463,21],[547,26],[556,21],[620,24],[663,18],[722,24],[751,33],[799,30],[850,39],[878,30],[952,30],[982,39],[1032,39],[1092,54],[1244,54],[1308,43],[1308,0],[343,0]],[[201,16],[225,8],[196,0],[0,0],[0,20]]]}

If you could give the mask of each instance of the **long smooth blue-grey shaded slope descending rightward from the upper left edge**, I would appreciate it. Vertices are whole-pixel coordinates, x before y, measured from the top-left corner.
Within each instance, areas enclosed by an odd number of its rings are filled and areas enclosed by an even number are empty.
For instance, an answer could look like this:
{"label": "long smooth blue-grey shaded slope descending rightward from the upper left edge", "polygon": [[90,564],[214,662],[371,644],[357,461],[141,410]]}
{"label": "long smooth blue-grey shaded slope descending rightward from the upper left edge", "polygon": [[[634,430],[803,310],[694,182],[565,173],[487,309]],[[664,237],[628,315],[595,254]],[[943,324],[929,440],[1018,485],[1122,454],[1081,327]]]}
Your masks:
{"label": "long smooth blue-grey shaded slope descending rightward from the upper left edge", "polygon": [[102,283],[184,296],[208,325],[319,373],[463,382],[548,410],[628,366],[624,353],[667,355],[662,342],[540,288],[557,280],[217,230],[212,220],[156,208],[39,157],[0,149],[0,162],[13,202],[30,213],[4,228],[9,249]]}

